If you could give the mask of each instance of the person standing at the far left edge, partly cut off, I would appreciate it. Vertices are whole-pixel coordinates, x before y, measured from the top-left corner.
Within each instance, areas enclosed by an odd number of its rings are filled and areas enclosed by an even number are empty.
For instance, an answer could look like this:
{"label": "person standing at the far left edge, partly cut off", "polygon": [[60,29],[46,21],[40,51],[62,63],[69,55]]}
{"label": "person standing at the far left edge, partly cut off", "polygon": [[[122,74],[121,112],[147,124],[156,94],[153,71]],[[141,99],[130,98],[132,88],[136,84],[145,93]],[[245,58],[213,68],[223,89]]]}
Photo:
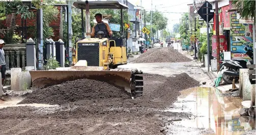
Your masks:
{"label": "person standing at the far left edge, partly cut off", "polygon": [[5,41],[0,40],[0,70],[1,70],[1,74],[2,74],[2,87],[4,87],[4,80],[6,78],[6,76],[5,76],[5,73],[6,73],[5,52],[3,50],[4,46],[5,46]]}

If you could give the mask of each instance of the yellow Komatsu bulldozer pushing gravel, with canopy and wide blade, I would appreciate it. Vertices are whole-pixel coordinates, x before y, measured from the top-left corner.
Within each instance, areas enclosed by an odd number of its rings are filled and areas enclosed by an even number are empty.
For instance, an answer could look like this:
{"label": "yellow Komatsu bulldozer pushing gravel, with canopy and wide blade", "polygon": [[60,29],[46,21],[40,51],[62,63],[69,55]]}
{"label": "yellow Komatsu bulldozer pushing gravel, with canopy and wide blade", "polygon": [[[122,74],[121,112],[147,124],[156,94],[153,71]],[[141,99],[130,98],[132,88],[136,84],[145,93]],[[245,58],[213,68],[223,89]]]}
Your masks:
{"label": "yellow Komatsu bulldozer pushing gravel, with canopy and wide blade", "polygon": [[[86,32],[82,19],[82,38],[76,43],[76,65],[60,67],[49,71],[30,71],[33,89],[61,84],[76,79],[93,79],[104,81],[121,87],[131,93],[131,97],[143,94],[143,72],[137,69],[123,69],[118,65],[127,64],[126,38],[121,25],[121,37],[104,38],[103,33],[97,33],[98,38],[90,36],[90,11],[89,9],[120,9],[123,24],[123,9],[128,9],[124,4],[114,1],[75,2],[77,9],[86,10]],[[82,63],[82,64],[81,64]]]}

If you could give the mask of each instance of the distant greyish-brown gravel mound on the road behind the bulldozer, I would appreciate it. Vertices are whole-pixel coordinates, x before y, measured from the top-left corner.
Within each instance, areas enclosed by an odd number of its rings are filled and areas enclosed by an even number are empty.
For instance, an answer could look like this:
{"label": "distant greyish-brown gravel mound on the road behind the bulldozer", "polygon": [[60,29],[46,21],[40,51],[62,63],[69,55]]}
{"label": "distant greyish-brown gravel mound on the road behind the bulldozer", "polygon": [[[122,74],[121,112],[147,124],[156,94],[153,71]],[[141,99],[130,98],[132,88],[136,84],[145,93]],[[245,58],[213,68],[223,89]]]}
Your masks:
{"label": "distant greyish-brown gravel mound on the road behind the bulldozer", "polygon": [[188,62],[188,57],[177,52],[173,48],[152,48],[146,53],[134,59],[133,63],[153,63],[153,62]]}

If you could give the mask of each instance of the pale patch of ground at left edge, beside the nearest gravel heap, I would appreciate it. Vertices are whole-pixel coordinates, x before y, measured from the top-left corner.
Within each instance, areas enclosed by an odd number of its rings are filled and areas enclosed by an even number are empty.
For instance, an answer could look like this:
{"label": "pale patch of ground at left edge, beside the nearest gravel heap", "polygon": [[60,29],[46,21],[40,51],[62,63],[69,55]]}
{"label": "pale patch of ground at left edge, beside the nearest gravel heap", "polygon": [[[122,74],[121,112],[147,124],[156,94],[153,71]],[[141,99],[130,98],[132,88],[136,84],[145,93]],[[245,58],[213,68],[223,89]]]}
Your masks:
{"label": "pale patch of ground at left edge, beside the nearest gravel heap", "polygon": [[58,105],[46,105],[46,104],[20,104],[24,97],[11,97],[5,101],[0,100],[0,109],[7,107],[21,107],[21,106],[31,106],[31,107],[57,107]]}

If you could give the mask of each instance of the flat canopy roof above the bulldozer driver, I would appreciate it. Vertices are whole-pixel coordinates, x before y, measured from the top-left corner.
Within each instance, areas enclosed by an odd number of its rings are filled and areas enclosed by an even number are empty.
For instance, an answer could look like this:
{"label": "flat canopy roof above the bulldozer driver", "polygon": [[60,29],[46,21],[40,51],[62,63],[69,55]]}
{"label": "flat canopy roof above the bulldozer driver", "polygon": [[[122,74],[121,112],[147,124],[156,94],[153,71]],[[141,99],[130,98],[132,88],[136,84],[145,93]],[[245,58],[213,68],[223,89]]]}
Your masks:
{"label": "flat canopy roof above the bulldozer driver", "polygon": [[[74,2],[77,9],[86,9],[86,2]],[[115,1],[95,1],[89,2],[89,9],[128,9],[124,4]]]}

